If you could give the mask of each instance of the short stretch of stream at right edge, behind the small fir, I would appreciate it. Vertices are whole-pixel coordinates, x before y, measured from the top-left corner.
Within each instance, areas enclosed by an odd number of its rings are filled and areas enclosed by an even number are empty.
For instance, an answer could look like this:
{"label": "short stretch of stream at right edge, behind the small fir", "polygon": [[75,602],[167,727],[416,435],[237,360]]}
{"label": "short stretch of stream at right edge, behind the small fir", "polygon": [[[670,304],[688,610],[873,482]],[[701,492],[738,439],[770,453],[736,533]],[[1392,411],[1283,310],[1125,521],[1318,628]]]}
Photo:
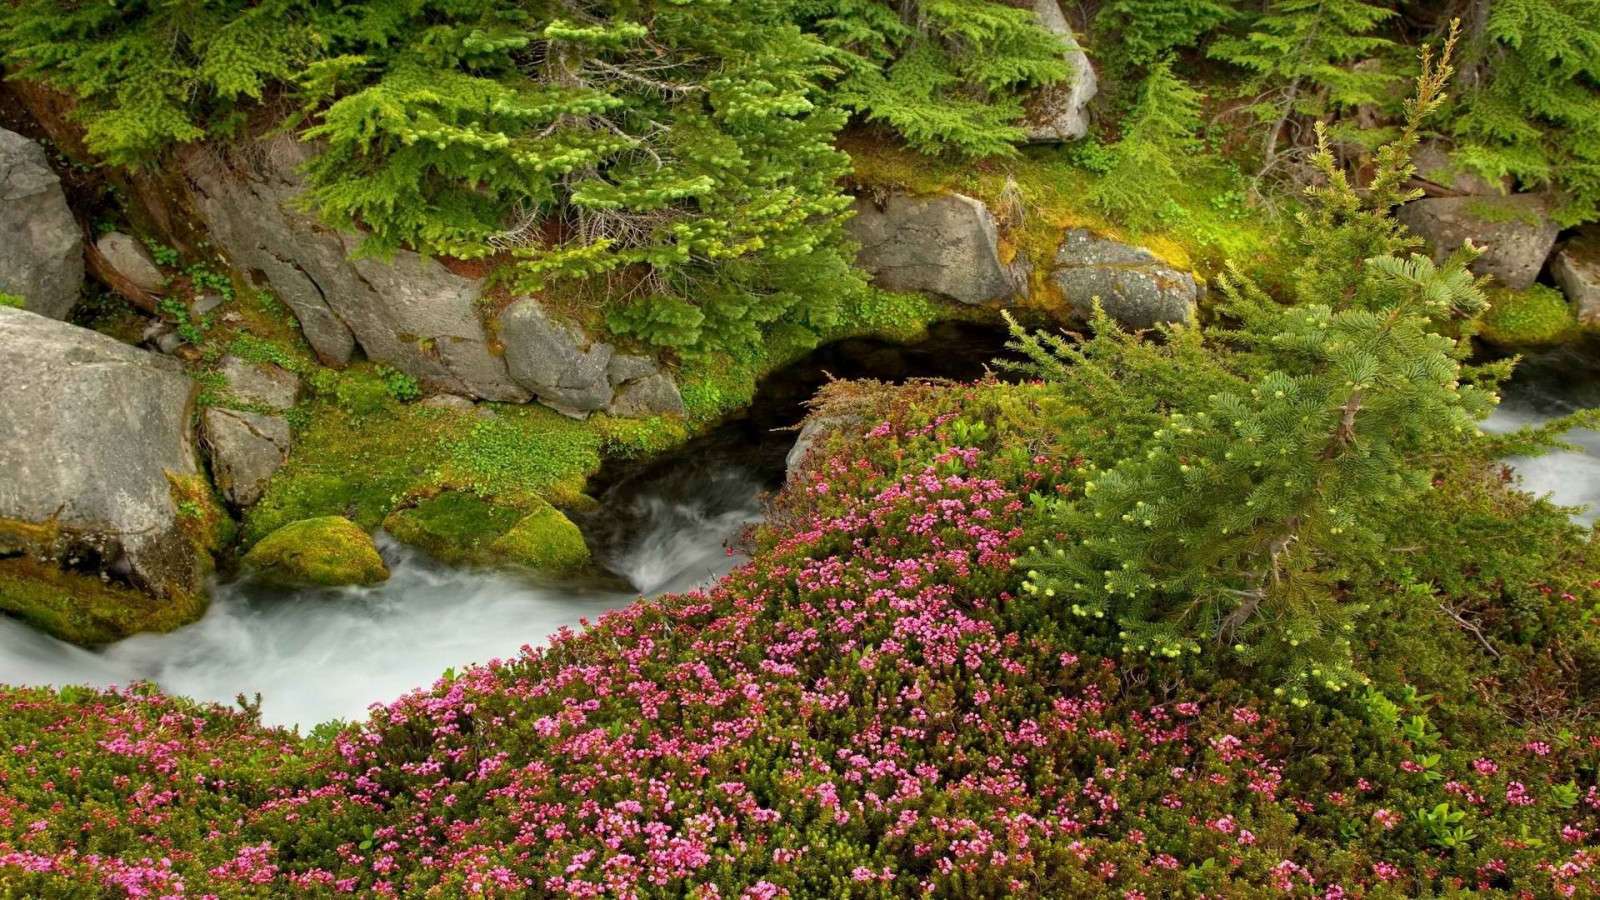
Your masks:
{"label": "short stretch of stream at right edge, behind the small fir", "polygon": [[[1523,360],[1483,429],[1515,431],[1590,407],[1600,407],[1600,359],[1592,351],[1566,348]],[[1554,450],[1507,463],[1517,471],[1523,490],[1579,508],[1574,519],[1589,525],[1600,516],[1600,431],[1570,431],[1565,440],[1578,450]]]}

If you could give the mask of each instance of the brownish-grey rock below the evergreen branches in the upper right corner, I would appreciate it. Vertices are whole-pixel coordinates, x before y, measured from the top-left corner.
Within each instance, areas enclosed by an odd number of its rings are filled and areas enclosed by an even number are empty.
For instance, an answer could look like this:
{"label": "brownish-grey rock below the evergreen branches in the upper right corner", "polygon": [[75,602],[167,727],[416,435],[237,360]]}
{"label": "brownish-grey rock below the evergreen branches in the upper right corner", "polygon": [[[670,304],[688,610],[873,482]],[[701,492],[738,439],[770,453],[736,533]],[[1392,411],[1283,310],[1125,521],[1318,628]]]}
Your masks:
{"label": "brownish-grey rock below the evergreen branches in the upper right corner", "polygon": [[1472,271],[1512,290],[1523,290],[1539,277],[1560,232],[1550,221],[1549,203],[1534,194],[1427,197],[1400,207],[1395,215],[1427,242],[1437,263],[1472,240],[1483,248]]}

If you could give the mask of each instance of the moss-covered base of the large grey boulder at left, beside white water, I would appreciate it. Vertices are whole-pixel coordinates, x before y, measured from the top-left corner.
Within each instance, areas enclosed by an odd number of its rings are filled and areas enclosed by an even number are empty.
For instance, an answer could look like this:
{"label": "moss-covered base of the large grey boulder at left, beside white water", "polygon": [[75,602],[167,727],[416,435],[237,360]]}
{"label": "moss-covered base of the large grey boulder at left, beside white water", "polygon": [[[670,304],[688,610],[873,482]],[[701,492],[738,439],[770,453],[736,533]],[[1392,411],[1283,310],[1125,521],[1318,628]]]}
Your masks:
{"label": "moss-covered base of the large grey boulder at left, beside white water", "polygon": [[205,612],[205,597],[155,599],[29,557],[0,559],[0,612],[40,631],[94,647],[139,631],[171,631]]}

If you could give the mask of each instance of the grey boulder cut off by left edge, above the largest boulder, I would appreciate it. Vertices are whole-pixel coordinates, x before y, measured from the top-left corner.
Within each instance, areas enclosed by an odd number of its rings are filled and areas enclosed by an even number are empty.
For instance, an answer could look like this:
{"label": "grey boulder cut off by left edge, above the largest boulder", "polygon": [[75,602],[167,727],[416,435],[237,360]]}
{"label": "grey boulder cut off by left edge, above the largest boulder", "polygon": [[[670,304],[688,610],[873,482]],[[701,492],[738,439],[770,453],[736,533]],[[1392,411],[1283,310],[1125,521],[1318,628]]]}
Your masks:
{"label": "grey boulder cut off by left edge, above the largest boulder", "polygon": [[83,290],[83,232],[45,147],[0,128],[0,293],[66,319]]}

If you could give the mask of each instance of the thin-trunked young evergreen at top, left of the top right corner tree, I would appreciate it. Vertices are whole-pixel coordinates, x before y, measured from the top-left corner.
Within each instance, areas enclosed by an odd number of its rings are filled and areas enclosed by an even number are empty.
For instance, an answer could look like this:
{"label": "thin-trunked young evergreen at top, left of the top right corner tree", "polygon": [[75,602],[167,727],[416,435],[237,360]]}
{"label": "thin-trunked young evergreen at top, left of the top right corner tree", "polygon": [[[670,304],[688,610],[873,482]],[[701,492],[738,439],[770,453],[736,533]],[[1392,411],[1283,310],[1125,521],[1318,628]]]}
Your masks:
{"label": "thin-trunked young evergreen at top, left of the top right corner tree", "polygon": [[1282,163],[1286,127],[1376,104],[1394,77],[1381,67],[1394,42],[1374,34],[1394,10],[1362,0],[1272,0],[1211,56],[1253,72],[1250,112],[1266,125],[1262,175]]}

